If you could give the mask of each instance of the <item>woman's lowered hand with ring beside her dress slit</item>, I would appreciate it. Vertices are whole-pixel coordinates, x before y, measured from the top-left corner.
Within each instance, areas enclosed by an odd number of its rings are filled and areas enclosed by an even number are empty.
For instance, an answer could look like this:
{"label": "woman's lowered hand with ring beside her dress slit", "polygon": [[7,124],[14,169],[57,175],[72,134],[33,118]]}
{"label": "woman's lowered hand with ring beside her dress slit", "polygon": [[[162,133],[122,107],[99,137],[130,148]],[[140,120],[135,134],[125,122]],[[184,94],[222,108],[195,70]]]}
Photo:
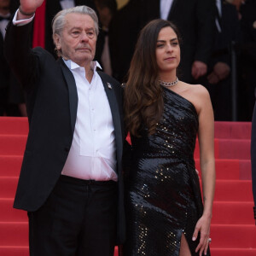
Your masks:
{"label": "woman's lowered hand with ring beside her dress slit", "polygon": [[210,224],[211,218],[202,215],[202,217],[198,220],[197,224],[195,225],[195,231],[192,240],[195,241],[197,239],[198,233],[200,232],[200,241],[198,246],[195,248],[195,252],[197,253],[199,251],[200,256],[202,255],[202,253],[207,255],[207,248],[209,246],[210,236]]}

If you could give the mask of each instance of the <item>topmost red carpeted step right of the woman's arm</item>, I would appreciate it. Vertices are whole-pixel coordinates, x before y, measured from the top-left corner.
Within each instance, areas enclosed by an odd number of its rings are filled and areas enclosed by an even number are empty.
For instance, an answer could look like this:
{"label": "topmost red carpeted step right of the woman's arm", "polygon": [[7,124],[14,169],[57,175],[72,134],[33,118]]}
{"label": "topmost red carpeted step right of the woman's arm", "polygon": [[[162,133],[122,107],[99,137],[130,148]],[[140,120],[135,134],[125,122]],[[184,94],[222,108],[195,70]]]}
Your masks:
{"label": "topmost red carpeted step right of the woman's arm", "polygon": [[[215,122],[214,137],[224,139],[251,139],[251,122]],[[256,254],[255,254],[256,255]]]}

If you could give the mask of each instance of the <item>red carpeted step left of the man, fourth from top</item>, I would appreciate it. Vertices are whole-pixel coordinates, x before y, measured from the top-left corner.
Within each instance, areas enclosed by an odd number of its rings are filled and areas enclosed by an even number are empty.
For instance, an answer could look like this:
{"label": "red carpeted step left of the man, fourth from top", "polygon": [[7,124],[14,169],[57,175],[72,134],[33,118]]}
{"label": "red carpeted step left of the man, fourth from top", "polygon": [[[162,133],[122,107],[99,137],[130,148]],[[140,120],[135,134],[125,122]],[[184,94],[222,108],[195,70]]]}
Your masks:
{"label": "red carpeted step left of the man, fourth from top", "polygon": [[0,177],[0,198],[14,198],[18,177]]}

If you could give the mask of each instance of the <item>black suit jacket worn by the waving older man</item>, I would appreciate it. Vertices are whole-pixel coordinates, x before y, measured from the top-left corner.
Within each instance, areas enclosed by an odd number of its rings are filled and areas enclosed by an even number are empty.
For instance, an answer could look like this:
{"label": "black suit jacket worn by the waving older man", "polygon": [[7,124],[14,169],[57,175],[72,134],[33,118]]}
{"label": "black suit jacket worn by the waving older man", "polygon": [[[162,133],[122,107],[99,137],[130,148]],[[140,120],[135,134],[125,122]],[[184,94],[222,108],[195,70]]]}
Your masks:
{"label": "black suit jacket worn by the waving older man", "polygon": [[[73,73],[62,59],[42,48],[30,49],[32,23],[9,23],[4,52],[10,67],[26,90],[29,133],[15,195],[15,208],[36,211],[46,201],[61,175],[73,141],[78,93]],[[19,42],[19,44],[17,44]],[[99,72],[113,116],[119,177],[118,243],[124,241],[125,217],[121,158],[125,132],[122,116],[122,88]],[[112,89],[108,84],[112,84]],[[104,111],[104,109],[102,109]]]}

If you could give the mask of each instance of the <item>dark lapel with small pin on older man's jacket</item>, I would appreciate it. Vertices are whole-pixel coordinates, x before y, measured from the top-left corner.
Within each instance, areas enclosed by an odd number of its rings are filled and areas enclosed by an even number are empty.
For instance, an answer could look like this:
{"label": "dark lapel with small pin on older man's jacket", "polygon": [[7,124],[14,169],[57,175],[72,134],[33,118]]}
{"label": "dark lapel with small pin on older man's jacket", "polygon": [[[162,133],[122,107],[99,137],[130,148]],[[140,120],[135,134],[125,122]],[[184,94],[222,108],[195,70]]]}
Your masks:
{"label": "dark lapel with small pin on older man's jacket", "polygon": [[102,79],[106,95],[108,97],[109,106],[112,113],[113,127],[115,134],[115,142],[117,147],[117,158],[120,159],[123,152],[123,139],[122,139],[122,129],[121,129],[121,120],[119,113],[119,105],[115,96],[113,84],[108,82],[108,77],[102,72],[98,72]]}

